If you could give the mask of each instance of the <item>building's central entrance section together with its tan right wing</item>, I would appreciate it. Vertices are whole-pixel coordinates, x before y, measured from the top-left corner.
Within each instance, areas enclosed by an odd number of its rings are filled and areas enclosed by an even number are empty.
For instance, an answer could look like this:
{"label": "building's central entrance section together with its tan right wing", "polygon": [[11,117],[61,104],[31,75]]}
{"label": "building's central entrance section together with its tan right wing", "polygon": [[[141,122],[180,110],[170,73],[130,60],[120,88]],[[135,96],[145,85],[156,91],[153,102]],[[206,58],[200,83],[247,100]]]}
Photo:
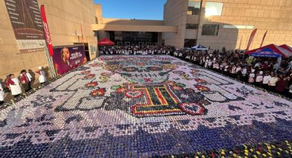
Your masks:
{"label": "building's central entrance section together with its tan right wing", "polygon": [[201,44],[211,49],[245,49],[252,30],[257,28],[251,48],[260,46],[266,31],[264,45],[292,45],[290,0],[168,0],[162,21],[102,19],[101,6],[96,9],[99,21],[93,30],[100,32],[100,38],[121,44],[142,44],[143,39],[119,37],[135,30],[140,34],[157,32],[157,40],[151,42],[179,48]]}

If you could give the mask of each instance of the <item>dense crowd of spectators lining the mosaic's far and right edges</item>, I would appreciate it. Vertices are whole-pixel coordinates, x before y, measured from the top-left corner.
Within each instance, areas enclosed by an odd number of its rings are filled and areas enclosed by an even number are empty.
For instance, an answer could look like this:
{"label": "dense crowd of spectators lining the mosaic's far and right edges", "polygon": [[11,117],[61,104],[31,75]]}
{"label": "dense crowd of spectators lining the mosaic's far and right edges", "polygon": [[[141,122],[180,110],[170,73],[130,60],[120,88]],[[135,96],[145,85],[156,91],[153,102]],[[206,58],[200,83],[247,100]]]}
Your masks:
{"label": "dense crowd of spectators lining the mosaic's far and right edges", "polygon": [[163,45],[104,46],[100,48],[100,54],[169,54],[292,98],[291,58],[283,58],[278,65],[276,58],[254,58],[249,61],[249,56],[238,50],[194,51]]}

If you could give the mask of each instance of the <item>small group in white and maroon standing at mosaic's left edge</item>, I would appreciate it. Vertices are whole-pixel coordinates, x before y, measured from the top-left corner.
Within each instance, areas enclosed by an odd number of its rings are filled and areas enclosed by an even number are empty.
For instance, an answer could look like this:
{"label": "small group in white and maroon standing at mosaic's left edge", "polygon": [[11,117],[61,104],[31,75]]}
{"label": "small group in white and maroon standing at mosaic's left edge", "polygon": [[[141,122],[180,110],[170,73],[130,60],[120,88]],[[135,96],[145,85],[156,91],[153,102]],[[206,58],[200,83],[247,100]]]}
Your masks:
{"label": "small group in white and maroon standing at mosaic's left edge", "polygon": [[[41,85],[46,82],[45,71],[42,67],[38,67],[36,73],[39,75],[38,81]],[[9,74],[6,78],[5,87],[0,83],[0,105],[4,103],[4,94],[5,91],[11,92],[14,98],[18,98],[23,90],[25,92],[32,90],[32,75],[27,72],[25,69],[21,70],[19,76],[14,76],[14,74]]]}

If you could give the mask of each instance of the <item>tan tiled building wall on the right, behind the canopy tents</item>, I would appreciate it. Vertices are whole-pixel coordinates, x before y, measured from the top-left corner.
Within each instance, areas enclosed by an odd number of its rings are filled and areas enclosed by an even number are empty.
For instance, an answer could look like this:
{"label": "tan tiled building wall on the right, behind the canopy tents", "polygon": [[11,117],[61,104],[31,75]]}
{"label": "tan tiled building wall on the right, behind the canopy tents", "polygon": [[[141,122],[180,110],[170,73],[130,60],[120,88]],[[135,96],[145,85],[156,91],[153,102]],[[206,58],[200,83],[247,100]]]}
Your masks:
{"label": "tan tiled building wall on the right, behind the canopy tents", "polygon": [[[203,0],[203,8],[207,0]],[[264,45],[292,45],[292,1],[291,0],[213,0],[223,3],[221,16],[202,17],[199,27],[198,43],[211,48],[245,49],[252,30],[224,29],[222,25],[253,25],[258,32],[251,49],[260,47],[265,32]],[[201,10],[203,12],[203,10]],[[218,36],[201,36],[203,23],[220,23]]]}

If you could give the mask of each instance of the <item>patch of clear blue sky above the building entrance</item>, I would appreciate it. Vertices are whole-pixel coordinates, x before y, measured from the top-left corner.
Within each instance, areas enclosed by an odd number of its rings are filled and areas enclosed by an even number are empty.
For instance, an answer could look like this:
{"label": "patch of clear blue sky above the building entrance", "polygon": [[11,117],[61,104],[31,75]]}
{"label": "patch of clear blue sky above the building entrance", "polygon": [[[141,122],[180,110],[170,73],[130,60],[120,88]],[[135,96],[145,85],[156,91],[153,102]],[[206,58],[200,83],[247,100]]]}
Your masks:
{"label": "patch of clear blue sky above the building entrance", "polygon": [[102,5],[104,18],[164,19],[166,0],[94,0]]}

